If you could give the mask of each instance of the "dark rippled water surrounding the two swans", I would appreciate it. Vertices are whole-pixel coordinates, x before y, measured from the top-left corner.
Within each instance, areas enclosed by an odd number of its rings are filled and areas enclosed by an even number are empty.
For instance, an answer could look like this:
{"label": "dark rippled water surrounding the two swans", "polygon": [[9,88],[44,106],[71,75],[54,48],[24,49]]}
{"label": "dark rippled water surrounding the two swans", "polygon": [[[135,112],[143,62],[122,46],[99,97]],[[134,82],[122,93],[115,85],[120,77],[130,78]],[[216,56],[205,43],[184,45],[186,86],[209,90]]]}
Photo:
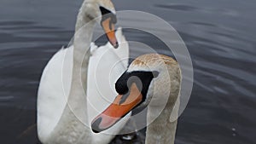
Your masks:
{"label": "dark rippled water surrounding the two swans", "polygon": [[[177,144],[256,143],[256,1],[113,3],[117,10],[160,16],[179,32],[189,49],[195,82],[189,105],[179,118]],[[50,57],[73,37],[80,4],[81,0],[1,0],[1,143],[38,143],[38,81]],[[126,31],[125,36],[159,46],[135,32]],[[134,141],[143,141],[142,135],[143,131]],[[119,141],[120,136],[115,143]]]}

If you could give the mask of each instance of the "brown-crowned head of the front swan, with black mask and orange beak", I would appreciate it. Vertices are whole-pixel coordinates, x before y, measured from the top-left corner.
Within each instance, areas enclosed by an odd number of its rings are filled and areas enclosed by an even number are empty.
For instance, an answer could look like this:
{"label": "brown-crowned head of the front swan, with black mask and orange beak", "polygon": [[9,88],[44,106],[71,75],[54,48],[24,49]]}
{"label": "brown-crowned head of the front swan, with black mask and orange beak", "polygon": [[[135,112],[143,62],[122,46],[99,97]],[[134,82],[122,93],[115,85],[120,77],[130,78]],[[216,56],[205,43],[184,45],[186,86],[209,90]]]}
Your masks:
{"label": "brown-crowned head of the front swan, with black mask and orange beak", "polygon": [[92,121],[91,128],[94,132],[107,130],[128,112],[140,107],[162,107],[166,101],[173,105],[179,88],[180,70],[176,60],[166,55],[141,55],[119,77],[115,84],[119,95]]}

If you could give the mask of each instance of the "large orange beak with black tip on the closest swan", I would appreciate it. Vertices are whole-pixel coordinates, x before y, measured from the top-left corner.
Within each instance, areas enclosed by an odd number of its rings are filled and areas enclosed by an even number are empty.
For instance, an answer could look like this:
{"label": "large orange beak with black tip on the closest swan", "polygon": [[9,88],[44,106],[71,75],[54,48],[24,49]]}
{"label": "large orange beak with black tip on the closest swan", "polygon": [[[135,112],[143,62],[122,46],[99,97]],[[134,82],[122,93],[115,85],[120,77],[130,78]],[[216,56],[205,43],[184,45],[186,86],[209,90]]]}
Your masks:
{"label": "large orange beak with black tip on the closest swan", "polygon": [[112,127],[121,118],[143,101],[143,95],[136,84],[131,85],[130,93],[117,95],[113,103],[91,122],[91,129],[95,133]]}

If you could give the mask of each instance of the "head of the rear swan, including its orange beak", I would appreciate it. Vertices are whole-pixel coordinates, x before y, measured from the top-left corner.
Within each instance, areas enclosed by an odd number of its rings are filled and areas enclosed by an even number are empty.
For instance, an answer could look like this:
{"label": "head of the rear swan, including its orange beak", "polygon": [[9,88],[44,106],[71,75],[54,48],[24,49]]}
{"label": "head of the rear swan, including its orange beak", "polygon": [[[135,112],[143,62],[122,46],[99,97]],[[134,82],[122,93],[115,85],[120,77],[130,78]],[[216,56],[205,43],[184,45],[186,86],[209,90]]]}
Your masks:
{"label": "head of the rear swan, including its orange beak", "polygon": [[84,0],[80,11],[84,13],[87,19],[96,20],[102,26],[108,37],[108,41],[113,47],[119,47],[114,34],[114,24],[117,22],[116,11],[110,0]]}

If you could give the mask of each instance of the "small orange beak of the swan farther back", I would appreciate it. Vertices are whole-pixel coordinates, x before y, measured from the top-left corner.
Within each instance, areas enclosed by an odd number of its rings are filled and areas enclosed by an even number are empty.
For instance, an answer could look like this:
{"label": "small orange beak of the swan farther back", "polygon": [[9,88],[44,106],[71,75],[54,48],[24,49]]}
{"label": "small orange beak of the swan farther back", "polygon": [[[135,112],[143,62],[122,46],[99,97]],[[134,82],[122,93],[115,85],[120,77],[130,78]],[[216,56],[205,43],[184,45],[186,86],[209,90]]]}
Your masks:
{"label": "small orange beak of the swan farther back", "polygon": [[115,37],[114,24],[111,20],[111,17],[106,20],[102,20],[102,27],[108,37],[108,41],[113,45],[113,48],[117,49],[119,47],[119,43]]}

